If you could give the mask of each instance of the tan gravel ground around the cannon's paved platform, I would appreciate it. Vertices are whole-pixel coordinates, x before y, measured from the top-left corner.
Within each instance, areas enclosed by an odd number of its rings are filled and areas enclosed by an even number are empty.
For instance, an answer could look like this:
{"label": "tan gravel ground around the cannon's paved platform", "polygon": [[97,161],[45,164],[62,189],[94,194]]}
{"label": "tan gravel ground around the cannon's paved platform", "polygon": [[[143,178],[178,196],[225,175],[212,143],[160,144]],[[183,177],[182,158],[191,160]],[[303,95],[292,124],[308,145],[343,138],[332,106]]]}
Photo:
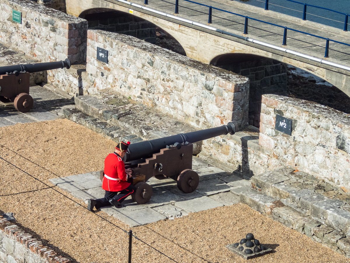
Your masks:
{"label": "tan gravel ground around the cannon's paved platform", "polygon": [[[0,157],[52,186],[48,179],[103,168],[114,142],[66,119],[0,128]],[[13,212],[36,238],[75,262],[127,262],[130,228],[103,212],[89,212],[26,173],[0,160],[0,213]],[[174,220],[132,228],[134,235],[175,262],[246,262],[225,245],[249,232],[273,253],[249,262],[350,262],[305,235],[282,226],[246,205],[218,207]],[[173,260],[133,238],[132,262]]]}

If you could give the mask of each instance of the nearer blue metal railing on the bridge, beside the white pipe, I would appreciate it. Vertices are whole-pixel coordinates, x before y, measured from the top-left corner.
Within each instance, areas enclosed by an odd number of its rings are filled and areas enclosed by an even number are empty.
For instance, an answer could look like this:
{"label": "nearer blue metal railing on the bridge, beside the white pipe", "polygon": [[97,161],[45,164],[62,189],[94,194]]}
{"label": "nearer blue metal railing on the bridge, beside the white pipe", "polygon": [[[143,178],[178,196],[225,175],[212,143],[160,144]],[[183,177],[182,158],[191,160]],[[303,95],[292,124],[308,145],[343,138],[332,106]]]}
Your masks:
{"label": "nearer blue metal railing on the bridge, beside the white pipe", "polygon": [[[146,1],[148,1],[148,0],[145,0],[145,3],[146,3]],[[212,9],[215,9],[215,10],[218,10],[218,11],[222,11],[222,12],[225,12],[225,13],[229,13],[229,14],[233,14],[233,15],[237,15],[237,16],[240,16],[240,17],[245,18],[245,22],[244,22],[244,32],[243,32],[243,34],[248,34],[248,19],[254,20],[254,21],[258,21],[258,22],[261,22],[261,23],[265,23],[265,24],[268,24],[268,25],[272,25],[272,26],[276,26],[276,27],[283,28],[283,29],[284,29],[284,32],[283,32],[283,42],[282,42],[282,45],[283,45],[283,46],[286,46],[286,45],[287,45],[287,30],[292,30],[292,31],[294,31],[294,32],[298,32],[298,33],[301,33],[301,34],[305,34],[305,35],[309,35],[309,36],[314,36],[314,37],[318,37],[318,38],[320,38],[320,39],[326,40],[326,46],[325,46],[324,57],[328,57],[328,54],[329,54],[329,41],[335,42],[335,43],[338,43],[338,44],[343,44],[343,45],[345,45],[345,46],[350,46],[350,44],[346,44],[346,43],[339,42],[339,41],[336,41],[336,40],[328,39],[327,37],[322,37],[322,36],[313,35],[313,34],[310,34],[310,33],[307,33],[307,32],[303,32],[303,31],[300,31],[300,30],[296,30],[296,29],[293,29],[293,28],[289,28],[289,27],[283,27],[283,26],[276,25],[276,24],[273,24],[273,23],[270,23],[270,22],[262,21],[262,20],[255,19],[255,18],[251,18],[251,17],[249,17],[249,16],[240,15],[240,14],[236,14],[236,13],[233,13],[233,12],[230,12],[230,11],[226,11],[226,10],[223,10],[223,9],[220,9],[220,8],[216,8],[216,7],[212,7],[212,6],[200,4],[200,3],[197,3],[197,2],[194,2],[194,1],[190,1],[190,0],[183,0],[183,1],[191,2],[191,3],[193,3],[193,4],[197,4],[197,5],[200,5],[200,6],[208,7],[208,8],[209,8],[209,14],[208,14],[208,16],[209,16],[209,17],[208,17],[208,23],[209,23],[209,24],[211,23]],[[266,0],[266,1],[268,2],[268,0]],[[287,0],[287,1],[292,1],[292,0]],[[294,1],[292,1],[292,2],[294,2]],[[175,14],[179,14],[179,0],[176,0],[176,1],[175,1]],[[346,16],[346,17],[347,17],[347,16]]]}

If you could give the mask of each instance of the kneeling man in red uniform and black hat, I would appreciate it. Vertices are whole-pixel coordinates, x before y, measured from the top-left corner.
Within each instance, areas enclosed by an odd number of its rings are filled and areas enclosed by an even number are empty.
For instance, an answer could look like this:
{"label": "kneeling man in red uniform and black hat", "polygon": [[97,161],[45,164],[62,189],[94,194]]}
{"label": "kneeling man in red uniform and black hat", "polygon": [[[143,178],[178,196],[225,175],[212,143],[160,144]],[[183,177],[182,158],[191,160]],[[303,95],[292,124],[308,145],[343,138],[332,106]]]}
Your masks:
{"label": "kneeling man in red uniform and black hat", "polygon": [[129,144],[130,141],[127,143],[121,141],[116,146],[116,150],[107,155],[102,181],[102,189],[106,191],[105,197],[88,200],[87,209],[90,211],[93,211],[94,207],[100,209],[111,204],[120,208],[122,207],[121,202],[136,190],[135,186],[127,182],[128,178],[131,177],[131,170],[125,169],[124,162],[121,160]]}

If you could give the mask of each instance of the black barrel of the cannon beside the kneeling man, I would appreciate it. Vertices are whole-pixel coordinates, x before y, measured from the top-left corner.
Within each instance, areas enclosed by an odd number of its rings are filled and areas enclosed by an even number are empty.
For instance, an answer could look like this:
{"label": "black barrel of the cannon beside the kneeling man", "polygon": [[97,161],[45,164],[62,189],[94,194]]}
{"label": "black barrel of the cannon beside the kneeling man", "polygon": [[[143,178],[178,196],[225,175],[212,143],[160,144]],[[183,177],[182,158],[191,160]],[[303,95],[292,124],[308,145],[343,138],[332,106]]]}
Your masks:
{"label": "black barrel of the cannon beside the kneeling man", "polygon": [[201,131],[194,131],[188,133],[180,133],[177,135],[154,139],[150,141],[140,141],[138,143],[130,144],[128,151],[123,157],[123,161],[133,161],[141,158],[146,158],[153,153],[158,153],[161,149],[167,147],[167,145],[174,145],[175,143],[196,143],[197,141],[206,140],[220,135],[226,135],[228,133],[235,134],[236,127],[232,122],[220,127],[210,128]]}

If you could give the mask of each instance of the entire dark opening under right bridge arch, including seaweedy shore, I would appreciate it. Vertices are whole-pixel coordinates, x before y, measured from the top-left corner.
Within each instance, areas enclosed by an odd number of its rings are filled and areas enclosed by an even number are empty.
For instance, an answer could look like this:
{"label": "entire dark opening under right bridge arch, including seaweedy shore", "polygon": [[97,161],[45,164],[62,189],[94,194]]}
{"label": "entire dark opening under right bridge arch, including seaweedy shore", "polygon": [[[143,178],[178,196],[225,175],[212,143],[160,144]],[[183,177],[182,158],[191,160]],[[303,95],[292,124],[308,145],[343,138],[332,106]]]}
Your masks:
{"label": "entire dark opening under right bridge arch, including seaweedy shore", "polygon": [[214,57],[210,64],[249,78],[249,124],[255,127],[259,127],[260,124],[263,94],[278,94],[314,101],[350,113],[350,98],[336,86],[316,84],[312,78],[293,75],[287,70],[288,64],[272,58],[228,53]]}

